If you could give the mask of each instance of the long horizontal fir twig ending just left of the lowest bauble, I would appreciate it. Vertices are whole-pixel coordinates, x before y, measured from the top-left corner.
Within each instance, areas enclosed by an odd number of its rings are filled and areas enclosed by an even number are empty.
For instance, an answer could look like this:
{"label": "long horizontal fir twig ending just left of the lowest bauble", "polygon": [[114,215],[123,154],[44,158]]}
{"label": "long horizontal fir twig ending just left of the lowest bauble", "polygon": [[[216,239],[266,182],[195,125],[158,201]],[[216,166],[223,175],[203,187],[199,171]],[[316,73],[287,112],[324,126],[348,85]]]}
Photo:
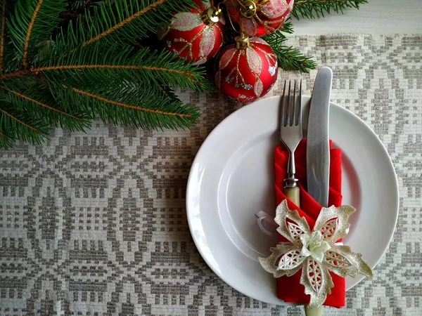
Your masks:
{"label": "long horizontal fir twig ending just left of the lowest bauble", "polygon": [[[173,88],[179,86],[199,92],[212,89],[205,79],[203,67],[186,63],[167,51],[158,53],[142,48],[135,53],[134,48],[123,48],[117,44],[110,44],[106,51],[102,49],[103,44],[94,43],[79,46],[70,54],[68,42],[56,41],[56,46],[51,48],[44,60],[35,62],[34,68],[28,72],[41,73],[57,84],[67,81],[73,87],[81,81],[107,83],[125,79],[145,81],[151,85],[165,82]],[[19,72],[17,74],[20,75]],[[11,76],[13,74],[4,75]]]}

